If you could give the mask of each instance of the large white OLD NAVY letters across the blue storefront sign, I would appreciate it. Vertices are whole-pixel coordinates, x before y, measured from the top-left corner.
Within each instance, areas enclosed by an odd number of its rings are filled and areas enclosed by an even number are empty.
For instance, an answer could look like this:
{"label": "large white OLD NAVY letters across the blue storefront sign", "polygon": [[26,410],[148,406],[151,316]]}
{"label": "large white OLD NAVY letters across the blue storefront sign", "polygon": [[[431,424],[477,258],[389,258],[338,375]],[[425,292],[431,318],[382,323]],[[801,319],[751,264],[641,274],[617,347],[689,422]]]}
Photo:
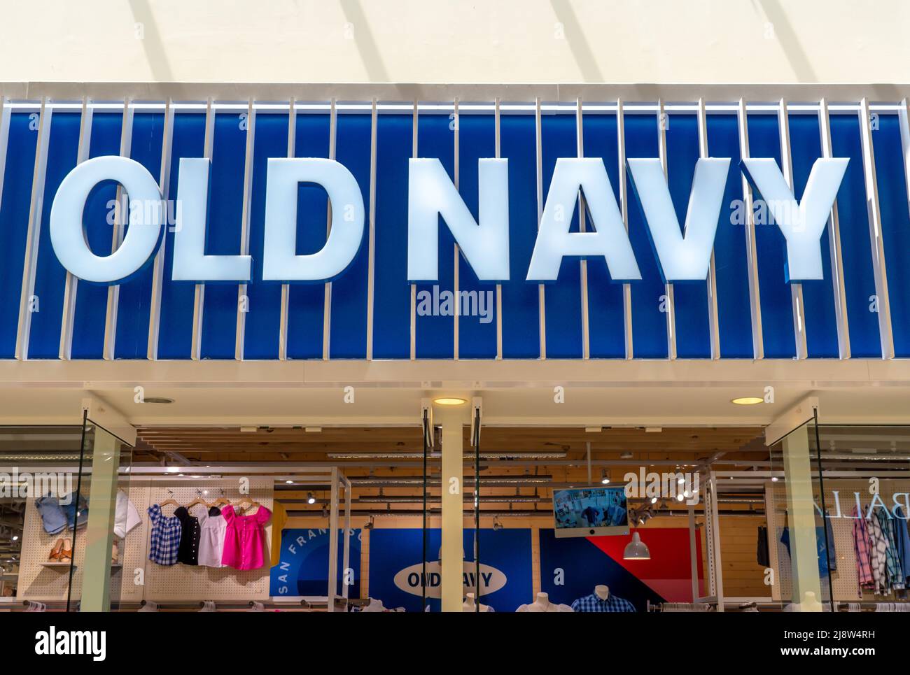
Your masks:
{"label": "large white OLD NAVY letters across the blue storefront sign", "polygon": [[[784,235],[786,268],[782,273],[787,281],[824,277],[820,237],[847,163],[842,157],[816,159],[802,199],[797,201],[773,158],[744,158],[740,162]],[[664,282],[703,281],[708,277],[730,164],[729,157],[697,160],[681,226],[661,160],[627,160]],[[207,158],[180,159],[180,208],[171,278],[193,283],[254,281],[252,257],[206,253],[210,167]],[[410,159],[408,281],[439,278],[440,217],[480,281],[510,279],[508,168],[508,158],[478,160],[479,217],[475,219],[439,159]],[[88,245],[83,212],[89,194],[105,181],[123,186],[132,217],[120,246],[109,256],[96,256]],[[321,186],[331,207],[329,237],[319,251],[308,255],[297,253],[300,184]],[[591,229],[571,232],[580,194]],[[98,156],[76,166],[57,190],[50,215],[51,242],[60,263],[75,277],[96,284],[120,284],[154,259],[165,231],[166,213],[157,182],[144,166],[123,156]],[[261,280],[321,283],[339,277],[357,256],[364,223],[358,183],[338,161],[268,158]],[[218,227],[217,222],[210,227]],[[532,283],[556,281],[566,257],[602,257],[614,282],[642,279],[610,177],[599,157],[557,159],[525,279]]]}

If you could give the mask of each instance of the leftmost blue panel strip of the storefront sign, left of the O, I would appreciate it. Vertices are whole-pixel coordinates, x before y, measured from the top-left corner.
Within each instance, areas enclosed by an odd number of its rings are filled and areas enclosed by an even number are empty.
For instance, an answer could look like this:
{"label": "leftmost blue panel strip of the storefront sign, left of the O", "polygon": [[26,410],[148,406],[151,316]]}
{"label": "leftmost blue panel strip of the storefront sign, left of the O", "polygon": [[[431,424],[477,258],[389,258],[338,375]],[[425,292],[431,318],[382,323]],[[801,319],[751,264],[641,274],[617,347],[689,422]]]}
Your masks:
{"label": "leftmost blue panel strip of the storefront sign, left of the O", "polygon": [[3,195],[0,196],[0,237],[4,241],[0,250],[0,303],[6,308],[0,312],[0,358],[15,357],[15,337],[19,326],[17,308],[22,297],[25,238],[28,235],[28,211],[38,139],[37,119],[31,115],[13,113],[9,122]]}

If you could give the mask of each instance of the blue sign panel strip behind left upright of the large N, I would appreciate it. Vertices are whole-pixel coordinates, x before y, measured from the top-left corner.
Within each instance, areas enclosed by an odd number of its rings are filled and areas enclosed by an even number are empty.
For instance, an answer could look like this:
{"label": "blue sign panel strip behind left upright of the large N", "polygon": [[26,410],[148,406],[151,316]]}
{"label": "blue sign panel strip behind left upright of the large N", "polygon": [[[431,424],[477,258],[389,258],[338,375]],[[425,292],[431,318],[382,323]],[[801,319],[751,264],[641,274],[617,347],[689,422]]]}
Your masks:
{"label": "blue sign panel strip behind left upright of the large N", "polygon": [[[417,126],[417,155],[436,157],[449,177],[455,176],[455,134],[448,115],[420,115]],[[439,280],[429,284],[417,284],[417,311],[414,317],[415,355],[417,358],[452,358],[455,354],[455,317],[420,316],[421,294],[435,297],[434,287],[443,292],[455,289],[455,237],[449,227],[442,223],[439,229]],[[432,303],[435,305],[435,302]],[[443,303],[440,300],[440,309]],[[454,311],[454,305],[451,310]],[[441,315],[441,312],[440,312]]]}

